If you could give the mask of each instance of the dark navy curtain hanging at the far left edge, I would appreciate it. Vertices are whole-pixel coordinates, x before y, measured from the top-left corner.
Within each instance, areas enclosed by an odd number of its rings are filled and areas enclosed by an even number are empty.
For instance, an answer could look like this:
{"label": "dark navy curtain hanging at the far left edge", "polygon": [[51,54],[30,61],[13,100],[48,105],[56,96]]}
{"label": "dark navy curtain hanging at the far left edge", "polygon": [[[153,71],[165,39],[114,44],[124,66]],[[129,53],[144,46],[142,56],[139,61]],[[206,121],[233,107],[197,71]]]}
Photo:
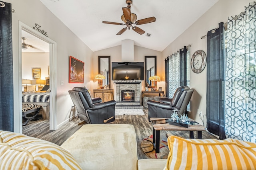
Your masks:
{"label": "dark navy curtain hanging at the far left edge", "polygon": [[0,130],[13,131],[12,4],[0,1]]}

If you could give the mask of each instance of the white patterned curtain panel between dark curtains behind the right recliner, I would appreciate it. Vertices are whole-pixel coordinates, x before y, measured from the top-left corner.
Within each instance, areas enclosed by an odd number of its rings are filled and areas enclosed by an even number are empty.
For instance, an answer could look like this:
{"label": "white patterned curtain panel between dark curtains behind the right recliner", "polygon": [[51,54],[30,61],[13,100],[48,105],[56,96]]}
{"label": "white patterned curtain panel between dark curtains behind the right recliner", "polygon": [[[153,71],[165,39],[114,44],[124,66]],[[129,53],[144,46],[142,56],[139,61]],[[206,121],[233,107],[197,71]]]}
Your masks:
{"label": "white patterned curtain panel between dark curtains behind the right recliner", "polygon": [[174,95],[176,88],[180,86],[180,51],[173,53],[169,58],[169,97]]}

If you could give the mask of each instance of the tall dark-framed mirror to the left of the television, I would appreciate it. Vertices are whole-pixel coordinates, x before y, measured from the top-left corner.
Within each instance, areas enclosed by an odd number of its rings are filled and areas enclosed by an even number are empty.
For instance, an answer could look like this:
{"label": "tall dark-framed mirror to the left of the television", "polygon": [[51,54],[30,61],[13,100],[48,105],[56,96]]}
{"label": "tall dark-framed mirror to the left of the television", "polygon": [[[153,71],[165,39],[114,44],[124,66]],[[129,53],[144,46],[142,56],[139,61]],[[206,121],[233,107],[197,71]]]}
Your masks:
{"label": "tall dark-framed mirror to the left of the television", "polygon": [[105,76],[102,86],[110,88],[110,56],[99,56],[98,74]]}

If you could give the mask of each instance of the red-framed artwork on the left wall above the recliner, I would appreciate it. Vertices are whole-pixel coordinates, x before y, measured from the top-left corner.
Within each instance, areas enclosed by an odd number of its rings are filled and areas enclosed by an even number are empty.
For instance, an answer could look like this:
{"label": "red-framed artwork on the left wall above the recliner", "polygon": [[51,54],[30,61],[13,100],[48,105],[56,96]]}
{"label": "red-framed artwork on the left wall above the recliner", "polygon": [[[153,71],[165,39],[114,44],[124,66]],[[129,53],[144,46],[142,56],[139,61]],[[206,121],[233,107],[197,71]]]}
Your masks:
{"label": "red-framed artwork on the left wall above the recliner", "polygon": [[84,62],[69,57],[69,83],[84,83]]}

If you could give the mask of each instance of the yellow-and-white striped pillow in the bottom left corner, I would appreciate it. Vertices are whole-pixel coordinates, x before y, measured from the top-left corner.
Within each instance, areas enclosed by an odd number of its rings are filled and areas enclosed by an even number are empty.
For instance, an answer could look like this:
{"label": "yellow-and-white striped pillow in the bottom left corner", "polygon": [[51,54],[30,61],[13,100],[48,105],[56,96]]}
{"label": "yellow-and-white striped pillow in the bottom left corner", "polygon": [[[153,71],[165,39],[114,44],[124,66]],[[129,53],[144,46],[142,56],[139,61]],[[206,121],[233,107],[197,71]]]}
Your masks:
{"label": "yellow-and-white striped pillow in the bottom left corner", "polygon": [[0,131],[1,170],[81,170],[74,157],[54,143]]}

